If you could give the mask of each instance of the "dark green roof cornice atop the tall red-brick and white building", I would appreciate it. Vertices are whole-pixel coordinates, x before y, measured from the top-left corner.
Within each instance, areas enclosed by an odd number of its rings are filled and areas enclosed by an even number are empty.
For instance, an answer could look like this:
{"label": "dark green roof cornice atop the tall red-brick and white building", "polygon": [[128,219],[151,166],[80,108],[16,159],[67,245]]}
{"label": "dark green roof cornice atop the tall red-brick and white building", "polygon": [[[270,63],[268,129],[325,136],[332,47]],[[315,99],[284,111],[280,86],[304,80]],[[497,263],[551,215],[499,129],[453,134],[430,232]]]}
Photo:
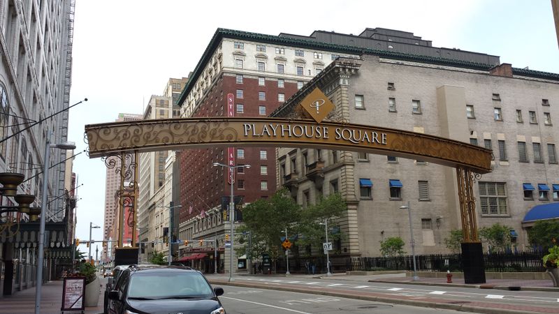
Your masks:
{"label": "dark green roof cornice atop the tall red-brick and white building", "polygon": [[[256,41],[260,43],[269,43],[269,44],[276,44],[276,45],[285,45],[291,47],[302,47],[307,49],[317,49],[317,50],[325,50],[329,52],[338,52],[344,54],[375,54],[379,57],[389,58],[389,59],[397,59],[402,61],[414,61],[414,62],[421,62],[421,63],[431,63],[431,64],[438,64],[442,66],[454,66],[458,68],[470,68],[473,70],[489,70],[493,68],[495,64],[485,64],[485,63],[476,63],[470,61],[462,61],[456,59],[444,59],[440,57],[430,57],[430,56],[422,56],[418,54],[405,54],[402,52],[393,52],[387,50],[377,50],[377,49],[370,49],[370,48],[363,48],[363,47],[353,47],[349,45],[337,45],[331,43],[323,43],[317,42],[314,40],[308,39],[301,39],[301,38],[291,38],[291,37],[279,37],[279,36],[271,36],[262,33],[251,33],[248,31],[236,31],[233,29],[217,29],[206,47],[204,53],[196,68],[193,71],[193,74],[189,78],[189,81],[184,86],[182,93],[180,94],[180,98],[178,103],[182,105],[184,103],[184,98],[189,94],[191,89],[194,87],[194,83],[198,80],[198,77],[201,75],[203,67],[212,57],[213,52],[217,48],[217,46],[221,43],[223,38],[231,38],[231,39],[239,39],[239,40],[250,40]],[[540,72],[535,70],[525,70],[520,68],[513,68],[513,73],[517,75],[524,75],[528,77],[537,77],[547,80],[559,80],[559,74],[556,73],[547,73],[547,72]]]}

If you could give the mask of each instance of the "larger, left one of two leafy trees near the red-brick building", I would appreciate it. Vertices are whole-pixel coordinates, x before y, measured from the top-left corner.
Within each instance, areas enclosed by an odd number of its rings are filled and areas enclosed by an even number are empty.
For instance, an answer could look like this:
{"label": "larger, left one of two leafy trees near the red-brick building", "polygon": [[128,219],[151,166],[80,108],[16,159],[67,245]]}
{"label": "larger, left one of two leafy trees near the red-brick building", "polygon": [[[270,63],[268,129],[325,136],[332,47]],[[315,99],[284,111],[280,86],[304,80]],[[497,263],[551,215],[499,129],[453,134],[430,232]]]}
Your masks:
{"label": "larger, left one of two leafy trees near the red-brick building", "polygon": [[[238,228],[242,235],[237,241],[246,242],[250,235],[252,257],[261,257],[270,253],[273,246],[281,246],[280,238],[286,227],[298,222],[300,207],[291,197],[289,190],[282,188],[269,199],[256,200],[242,209],[243,223]],[[238,242],[240,243],[240,242]],[[247,253],[247,246],[235,248],[237,255]]]}

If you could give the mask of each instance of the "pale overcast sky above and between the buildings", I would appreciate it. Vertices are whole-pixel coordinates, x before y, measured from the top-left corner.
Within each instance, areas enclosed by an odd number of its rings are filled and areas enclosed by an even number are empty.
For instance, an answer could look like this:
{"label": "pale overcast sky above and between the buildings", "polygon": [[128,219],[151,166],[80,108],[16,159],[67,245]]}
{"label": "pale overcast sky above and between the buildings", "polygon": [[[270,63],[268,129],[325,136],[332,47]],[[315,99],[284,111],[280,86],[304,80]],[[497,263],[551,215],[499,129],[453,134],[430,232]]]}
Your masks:
{"label": "pale overcast sky above and between the buildings", "polygon": [[[115,121],[120,112],[143,114],[170,77],[187,77],[217,28],[305,36],[315,30],[358,35],[367,27],[398,29],[432,40],[434,47],[493,54],[515,68],[559,73],[550,0],[76,2],[70,104],[88,98],[70,110],[68,140],[76,151],[87,147],[85,125]],[[77,190],[76,237],[87,241],[90,222],[103,227],[106,167],[80,154],[73,172],[83,184]],[[92,230],[92,239],[102,238],[102,228]]]}

